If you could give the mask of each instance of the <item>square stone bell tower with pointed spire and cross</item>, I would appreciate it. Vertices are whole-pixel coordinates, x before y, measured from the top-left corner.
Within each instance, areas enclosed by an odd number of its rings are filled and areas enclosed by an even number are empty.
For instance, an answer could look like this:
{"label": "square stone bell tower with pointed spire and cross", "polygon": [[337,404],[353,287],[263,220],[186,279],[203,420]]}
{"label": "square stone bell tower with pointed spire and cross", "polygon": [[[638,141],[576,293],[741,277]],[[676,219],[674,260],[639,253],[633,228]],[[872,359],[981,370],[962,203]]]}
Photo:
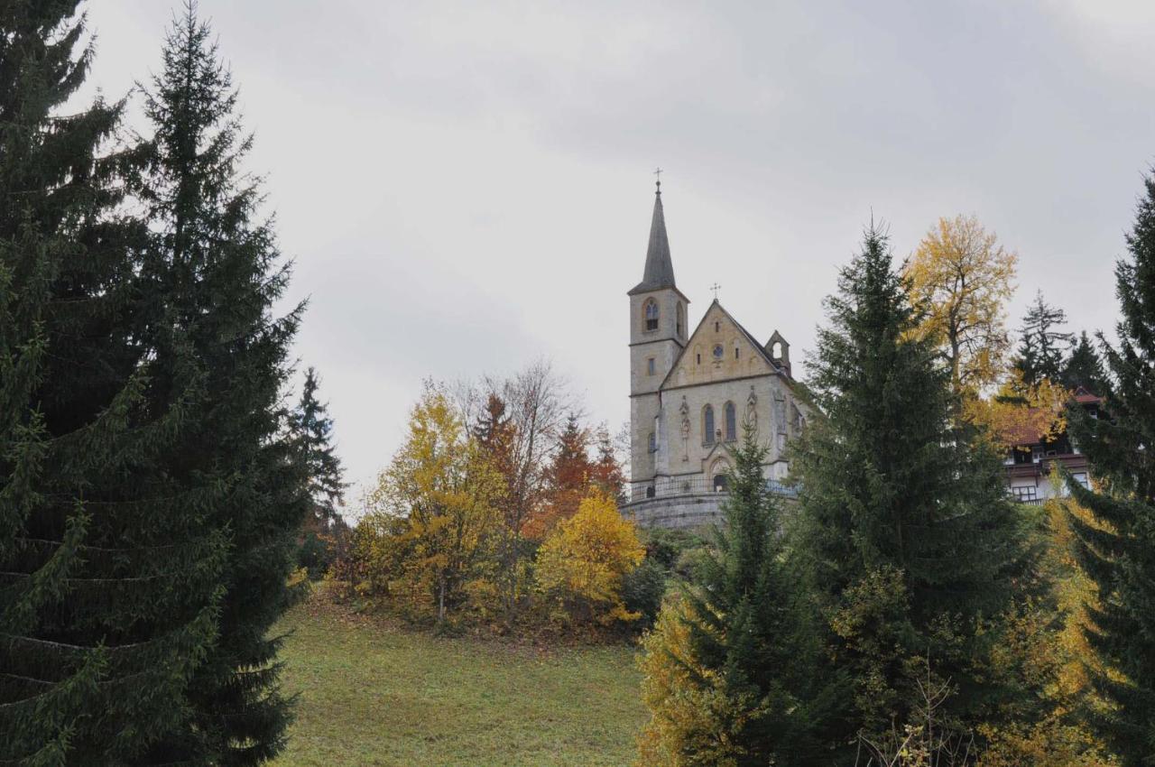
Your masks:
{"label": "square stone bell tower with pointed spire and cross", "polygon": [[[662,208],[662,181],[654,195],[642,281],[629,296],[629,472],[638,487],[669,469],[670,435],[660,387],[686,345],[690,299],[673,280]],[[672,423],[672,422],[671,422]],[[636,497],[636,492],[633,494]]]}

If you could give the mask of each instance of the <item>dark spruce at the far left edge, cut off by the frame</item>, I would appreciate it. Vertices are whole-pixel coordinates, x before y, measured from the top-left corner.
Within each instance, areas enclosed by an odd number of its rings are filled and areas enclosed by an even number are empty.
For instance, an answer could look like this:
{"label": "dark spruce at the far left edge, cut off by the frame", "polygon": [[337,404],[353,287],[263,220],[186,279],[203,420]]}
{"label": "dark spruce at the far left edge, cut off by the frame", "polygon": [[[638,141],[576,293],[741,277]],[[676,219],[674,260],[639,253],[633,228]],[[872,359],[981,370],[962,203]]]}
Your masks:
{"label": "dark spruce at the far left edge, cut off by the frame", "polygon": [[216,640],[215,496],[159,456],[196,371],[150,400],[146,226],[118,214],[121,104],[61,107],[92,51],[75,0],[0,9],[0,762],[169,764]]}

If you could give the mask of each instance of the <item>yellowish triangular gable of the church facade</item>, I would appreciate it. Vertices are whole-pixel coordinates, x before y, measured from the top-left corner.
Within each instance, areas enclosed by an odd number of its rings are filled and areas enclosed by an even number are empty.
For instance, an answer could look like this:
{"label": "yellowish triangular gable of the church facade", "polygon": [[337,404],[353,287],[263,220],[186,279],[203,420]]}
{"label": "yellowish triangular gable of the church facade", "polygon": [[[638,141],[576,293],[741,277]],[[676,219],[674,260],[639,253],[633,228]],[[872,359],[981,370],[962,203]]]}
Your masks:
{"label": "yellowish triangular gable of the church facade", "polygon": [[662,388],[774,372],[762,347],[715,300],[690,336]]}

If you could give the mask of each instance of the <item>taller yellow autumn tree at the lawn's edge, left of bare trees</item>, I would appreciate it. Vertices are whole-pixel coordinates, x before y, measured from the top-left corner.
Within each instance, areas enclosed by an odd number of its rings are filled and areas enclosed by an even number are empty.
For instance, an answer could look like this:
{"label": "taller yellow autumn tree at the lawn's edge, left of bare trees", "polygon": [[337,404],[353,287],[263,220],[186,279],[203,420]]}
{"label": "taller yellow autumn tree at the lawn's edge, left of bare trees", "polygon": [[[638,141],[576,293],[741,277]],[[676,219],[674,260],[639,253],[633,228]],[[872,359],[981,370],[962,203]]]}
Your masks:
{"label": "taller yellow autumn tree at the lawn's edge, left of bare trees", "polygon": [[426,384],[358,526],[366,531],[366,580],[395,584],[395,596],[426,605],[441,623],[471,590],[485,590],[478,581],[493,560],[501,491],[501,475],[449,396]]}

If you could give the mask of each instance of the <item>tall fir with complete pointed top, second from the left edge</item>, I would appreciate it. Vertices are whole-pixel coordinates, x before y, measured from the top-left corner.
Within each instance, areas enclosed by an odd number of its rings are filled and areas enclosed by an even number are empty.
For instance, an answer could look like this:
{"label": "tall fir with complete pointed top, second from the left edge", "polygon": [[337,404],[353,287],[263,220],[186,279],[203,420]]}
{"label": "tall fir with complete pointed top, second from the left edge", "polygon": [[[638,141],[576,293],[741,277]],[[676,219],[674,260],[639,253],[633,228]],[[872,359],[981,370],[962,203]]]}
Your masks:
{"label": "tall fir with complete pointed top, second from the left edge", "polygon": [[172,397],[199,371],[195,409],[163,456],[171,482],[206,501],[225,536],[218,636],[189,687],[198,745],[191,760],[255,765],[284,743],[290,701],[278,692],[273,624],[295,598],[296,538],[312,501],[282,403],[303,306],[273,314],[289,267],[259,180],[241,171],[252,147],[237,94],[193,2],[169,32],[146,89],[152,136],[135,192],[148,207],[157,359],[150,396]]}

